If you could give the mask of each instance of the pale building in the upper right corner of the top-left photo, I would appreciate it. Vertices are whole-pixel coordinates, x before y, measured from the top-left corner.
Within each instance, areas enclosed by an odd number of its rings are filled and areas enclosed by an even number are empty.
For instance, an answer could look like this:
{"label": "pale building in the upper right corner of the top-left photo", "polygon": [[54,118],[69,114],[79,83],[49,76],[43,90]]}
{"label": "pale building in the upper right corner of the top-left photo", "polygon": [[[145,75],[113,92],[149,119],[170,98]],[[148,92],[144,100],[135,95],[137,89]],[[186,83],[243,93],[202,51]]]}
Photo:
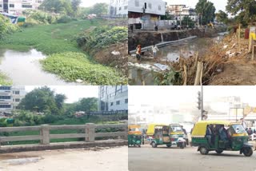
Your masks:
{"label": "pale building in the upper right corner of the top-left photo", "polygon": [[110,0],[109,14],[110,16],[127,17],[128,0]]}

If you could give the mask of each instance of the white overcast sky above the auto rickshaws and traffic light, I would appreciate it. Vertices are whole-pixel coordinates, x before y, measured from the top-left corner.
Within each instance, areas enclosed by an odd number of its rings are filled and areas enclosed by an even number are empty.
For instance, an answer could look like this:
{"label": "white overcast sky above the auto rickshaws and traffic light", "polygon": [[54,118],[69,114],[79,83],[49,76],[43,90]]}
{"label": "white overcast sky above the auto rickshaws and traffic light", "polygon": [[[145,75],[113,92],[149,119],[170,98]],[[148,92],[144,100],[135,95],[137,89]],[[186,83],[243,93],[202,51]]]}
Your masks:
{"label": "white overcast sky above the auto rickshaws and traffic light", "polygon": [[[129,105],[169,105],[179,109],[183,104],[196,107],[200,86],[129,86]],[[238,96],[243,103],[256,107],[256,86],[204,86],[204,101],[216,103],[219,97]]]}

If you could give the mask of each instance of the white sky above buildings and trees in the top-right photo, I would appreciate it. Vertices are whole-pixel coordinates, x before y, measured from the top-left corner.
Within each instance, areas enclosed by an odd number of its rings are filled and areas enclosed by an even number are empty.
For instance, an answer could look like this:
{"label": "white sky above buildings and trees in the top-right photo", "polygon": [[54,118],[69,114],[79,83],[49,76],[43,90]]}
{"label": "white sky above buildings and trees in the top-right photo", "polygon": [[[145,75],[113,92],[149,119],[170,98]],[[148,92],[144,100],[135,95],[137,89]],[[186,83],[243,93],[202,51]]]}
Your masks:
{"label": "white sky above buildings and trees in the top-right photo", "polygon": [[[174,5],[186,5],[190,7],[195,7],[198,3],[198,0],[164,0],[165,2],[168,2],[168,4],[174,4]],[[216,12],[218,10],[226,11],[226,3],[227,0],[210,0],[210,2],[214,3],[214,6],[216,8]]]}

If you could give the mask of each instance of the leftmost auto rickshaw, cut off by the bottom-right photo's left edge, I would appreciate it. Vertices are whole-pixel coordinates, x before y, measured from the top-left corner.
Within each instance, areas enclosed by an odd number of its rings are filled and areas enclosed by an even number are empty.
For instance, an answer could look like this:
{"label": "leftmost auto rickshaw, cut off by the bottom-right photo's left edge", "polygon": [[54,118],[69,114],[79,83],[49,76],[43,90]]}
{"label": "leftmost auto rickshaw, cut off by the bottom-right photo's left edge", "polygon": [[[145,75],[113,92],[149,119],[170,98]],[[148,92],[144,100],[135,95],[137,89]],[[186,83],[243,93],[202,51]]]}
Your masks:
{"label": "leftmost auto rickshaw, cut off by the bottom-right photo's left edge", "polygon": [[128,146],[134,145],[141,147],[144,144],[144,138],[142,138],[142,132],[139,130],[140,125],[128,125]]}

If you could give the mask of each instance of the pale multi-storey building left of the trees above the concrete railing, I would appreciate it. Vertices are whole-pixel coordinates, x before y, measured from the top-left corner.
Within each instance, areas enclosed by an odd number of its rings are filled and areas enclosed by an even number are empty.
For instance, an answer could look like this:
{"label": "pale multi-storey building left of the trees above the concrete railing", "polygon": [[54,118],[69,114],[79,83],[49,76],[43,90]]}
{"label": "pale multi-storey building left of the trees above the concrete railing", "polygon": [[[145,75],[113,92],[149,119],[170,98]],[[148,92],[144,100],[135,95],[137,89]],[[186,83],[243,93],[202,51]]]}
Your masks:
{"label": "pale multi-storey building left of the trees above the concrete railing", "polygon": [[13,109],[17,109],[25,95],[24,86],[0,86],[0,113],[10,113]]}

